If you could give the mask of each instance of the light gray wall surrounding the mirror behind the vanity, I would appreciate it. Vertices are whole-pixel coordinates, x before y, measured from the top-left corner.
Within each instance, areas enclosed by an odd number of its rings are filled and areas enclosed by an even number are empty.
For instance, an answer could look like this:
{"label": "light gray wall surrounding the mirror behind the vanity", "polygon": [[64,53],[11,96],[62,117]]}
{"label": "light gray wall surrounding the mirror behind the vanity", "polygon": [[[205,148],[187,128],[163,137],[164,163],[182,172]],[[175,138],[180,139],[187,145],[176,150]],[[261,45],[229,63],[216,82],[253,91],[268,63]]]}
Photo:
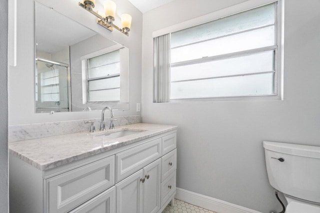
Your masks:
{"label": "light gray wall surrounding the mirror behind the vanity", "polygon": [[[130,96],[129,110],[117,110],[114,116],[139,115],[136,103],[141,102],[141,45],[142,13],[127,0],[117,4],[115,23],[120,25],[120,14],[132,16],[129,36],[117,30],[109,32],[96,24],[96,17],[78,6],[74,0],[37,0],[59,13],[129,48]],[[101,5],[94,9],[101,10]],[[28,23],[28,24],[25,24]],[[9,69],[9,125],[98,118],[101,110],[90,112],[34,113],[34,0],[17,0],[17,65]],[[23,88],[23,89],[21,89]],[[23,110],[21,109],[23,104]],[[103,107],[101,107],[103,108]]]}

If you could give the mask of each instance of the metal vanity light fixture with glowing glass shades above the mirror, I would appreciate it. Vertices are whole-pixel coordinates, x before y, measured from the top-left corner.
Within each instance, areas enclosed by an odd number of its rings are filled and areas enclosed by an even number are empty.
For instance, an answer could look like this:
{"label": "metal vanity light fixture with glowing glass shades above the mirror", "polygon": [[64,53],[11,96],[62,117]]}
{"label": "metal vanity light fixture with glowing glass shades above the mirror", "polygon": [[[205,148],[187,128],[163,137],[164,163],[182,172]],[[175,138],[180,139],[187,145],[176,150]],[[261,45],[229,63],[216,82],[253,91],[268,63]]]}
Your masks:
{"label": "metal vanity light fixture with glowing glass shades above the mirror", "polygon": [[[115,3],[111,0],[107,0],[103,3],[104,12],[105,14],[102,14],[98,11],[93,11],[95,0],[83,0],[83,3],[79,2],[79,6],[81,6],[86,11],[92,13],[97,17],[97,23],[101,26],[105,27],[109,31],[113,30],[113,27],[120,32],[122,32],[125,35],[129,35],[130,27],[131,27],[131,20],[132,17],[129,14],[122,14],[121,15],[121,24],[122,28],[118,27],[113,23],[114,17],[115,17]],[[105,16],[105,17],[104,17]]]}

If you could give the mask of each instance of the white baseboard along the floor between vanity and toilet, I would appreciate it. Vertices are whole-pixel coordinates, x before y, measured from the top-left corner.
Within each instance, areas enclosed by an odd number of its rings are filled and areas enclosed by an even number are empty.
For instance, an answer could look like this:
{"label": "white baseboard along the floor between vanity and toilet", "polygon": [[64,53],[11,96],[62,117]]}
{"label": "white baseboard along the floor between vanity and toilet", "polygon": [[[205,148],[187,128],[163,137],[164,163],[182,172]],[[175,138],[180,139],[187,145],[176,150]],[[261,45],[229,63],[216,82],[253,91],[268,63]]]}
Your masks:
{"label": "white baseboard along the floor between vanity and toilet", "polygon": [[176,187],[175,198],[218,213],[261,213],[240,205]]}

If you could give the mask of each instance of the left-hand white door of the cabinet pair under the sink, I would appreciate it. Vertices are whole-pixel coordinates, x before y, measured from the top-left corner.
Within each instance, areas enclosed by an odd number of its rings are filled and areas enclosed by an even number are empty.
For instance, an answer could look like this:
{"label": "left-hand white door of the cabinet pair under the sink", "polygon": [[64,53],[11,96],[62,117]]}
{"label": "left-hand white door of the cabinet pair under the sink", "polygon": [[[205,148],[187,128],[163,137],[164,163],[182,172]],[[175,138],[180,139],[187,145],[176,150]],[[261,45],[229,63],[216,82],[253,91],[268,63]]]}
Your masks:
{"label": "left-hand white door of the cabinet pair under the sink", "polygon": [[138,213],[142,211],[143,169],[115,184],[116,212]]}

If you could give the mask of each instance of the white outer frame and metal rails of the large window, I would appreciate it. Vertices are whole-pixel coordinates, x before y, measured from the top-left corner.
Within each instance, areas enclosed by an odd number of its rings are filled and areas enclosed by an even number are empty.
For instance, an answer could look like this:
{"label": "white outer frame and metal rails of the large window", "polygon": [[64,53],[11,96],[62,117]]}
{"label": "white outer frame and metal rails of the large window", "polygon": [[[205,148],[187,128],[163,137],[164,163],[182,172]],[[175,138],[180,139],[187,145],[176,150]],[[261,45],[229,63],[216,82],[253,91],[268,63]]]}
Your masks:
{"label": "white outer frame and metal rails of the large window", "polygon": [[[230,8],[232,13],[227,13],[225,9],[221,9],[215,12],[212,12],[209,15],[204,15],[200,16],[197,20],[197,23],[195,21],[192,21],[191,23],[187,23],[187,21],[164,28],[160,29],[157,31],[153,32],[153,37],[160,36],[165,33],[172,33],[175,31],[179,31],[182,29],[189,28],[194,25],[200,25],[202,23],[210,22],[219,18],[223,18],[226,16],[230,16],[236,13],[240,13],[243,11],[247,11],[250,9],[254,9],[256,7],[264,6],[267,4],[274,3],[274,41],[275,45],[271,46],[266,46],[266,47],[261,47],[261,48],[255,48],[255,49],[249,49],[249,50],[244,50],[244,51],[238,51],[238,52],[232,52],[232,53],[227,53],[227,54],[221,54],[221,55],[216,55],[216,56],[210,56],[210,57],[202,57],[202,58],[197,58],[197,59],[192,59],[192,60],[187,60],[187,61],[181,61],[181,62],[174,62],[170,63],[170,67],[174,67],[177,65],[187,65],[187,64],[192,64],[192,63],[198,63],[198,62],[208,62],[208,61],[214,61],[218,59],[226,59],[226,58],[232,58],[236,56],[241,56],[241,55],[246,55],[247,53],[258,53],[266,50],[274,50],[274,94],[260,94],[260,95],[235,95],[235,96],[214,96],[214,97],[192,97],[192,98],[176,98],[176,99],[171,99],[169,97],[169,102],[188,102],[188,101],[212,101],[212,100],[278,100],[278,99],[283,99],[283,14],[282,14],[282,2],[281,0],[265,0],[265,2],[259,3],[256,0],[250,0],[250,2],[246,3],[240,3],[239,5],[233,5],[228,8]],[[248,6],[249,4],[249,6]],[[219,16],[220,14],[220,16]],[[223,14],[223,15],[221,15]],[[210,18],[209,16],[213,16],[213,18]],[[263,26],[266,27],[266,26]],[[243,32],[243,31],[242,31]],[[228,35],[224,35],[228,36]],[[257,72],[259,73],[259,72]],[[234,75],[236,76],[236,75]],[[231,77],[231,75],[228,75],[228,77]],[[215,78],[215,77],[211,77]],[[201,78],[200,78],[201,79]],[[196,79],[198,80],[198,79]],[[171,79],[169,80],[169,86],[171,84]],[[171,89],[169,87],[169,89]],[[171,95],[171,92],[170,92]]]}

